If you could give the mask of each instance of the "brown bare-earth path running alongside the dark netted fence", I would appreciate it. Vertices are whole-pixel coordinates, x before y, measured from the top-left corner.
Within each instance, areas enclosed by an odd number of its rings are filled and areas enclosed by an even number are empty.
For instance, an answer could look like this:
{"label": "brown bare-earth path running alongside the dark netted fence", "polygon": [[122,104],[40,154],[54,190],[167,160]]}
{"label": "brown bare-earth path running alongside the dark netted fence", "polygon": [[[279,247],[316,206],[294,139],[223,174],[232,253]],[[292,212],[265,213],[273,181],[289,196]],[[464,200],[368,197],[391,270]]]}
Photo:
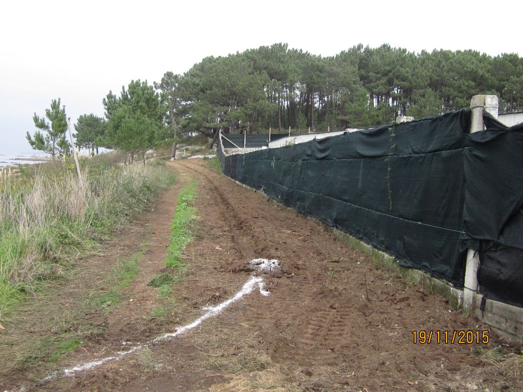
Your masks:
{"label": "brown bare-earth path running alongside the dark netted fence", "polygon": [[[179,187],[147,217],[154,246],[140,263],[129,301],[106,320],[103,336],[56,366],[142,346],[29,390],[520,390],[515,377],[476,353],[483,345],[413,343],[415,330],[485,329],[452,312],[443,298],[377,269],[320,223],[238,186],[203,161],[180,160],[174,167],[180,178],[199,181],[199,228],[169,313],[151,316],[165,299],[145,284],[163,269],[164,233]],[[181,333],[181,326],[210,312],[204,307],[223,304],[242,288],[256,273],[248,264],[254,258],[280,260],[279,269],[258,273],[270,295],[254,290]],[[179,336],[151,344],[176,328]],[[13,390],[23,378],[13,377],[5,388]]]}

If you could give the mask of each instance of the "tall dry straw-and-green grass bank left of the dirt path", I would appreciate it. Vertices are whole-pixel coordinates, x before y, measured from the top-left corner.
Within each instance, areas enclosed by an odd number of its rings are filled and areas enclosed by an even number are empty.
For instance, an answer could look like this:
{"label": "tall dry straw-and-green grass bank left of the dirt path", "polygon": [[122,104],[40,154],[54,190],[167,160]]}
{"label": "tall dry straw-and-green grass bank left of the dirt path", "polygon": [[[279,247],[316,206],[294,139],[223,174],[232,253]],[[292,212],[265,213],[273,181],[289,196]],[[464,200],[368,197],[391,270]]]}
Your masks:
{"label": "tall dry straw-and-green grass bank left of the dirt path", "polygon": [[134,165],[41,175],[32,185],[16,179],[0,190],[0,319],[20,291],[56,274],[79,251],[104,237],[115,225],[140,211],[172,182],[165,165]]}

